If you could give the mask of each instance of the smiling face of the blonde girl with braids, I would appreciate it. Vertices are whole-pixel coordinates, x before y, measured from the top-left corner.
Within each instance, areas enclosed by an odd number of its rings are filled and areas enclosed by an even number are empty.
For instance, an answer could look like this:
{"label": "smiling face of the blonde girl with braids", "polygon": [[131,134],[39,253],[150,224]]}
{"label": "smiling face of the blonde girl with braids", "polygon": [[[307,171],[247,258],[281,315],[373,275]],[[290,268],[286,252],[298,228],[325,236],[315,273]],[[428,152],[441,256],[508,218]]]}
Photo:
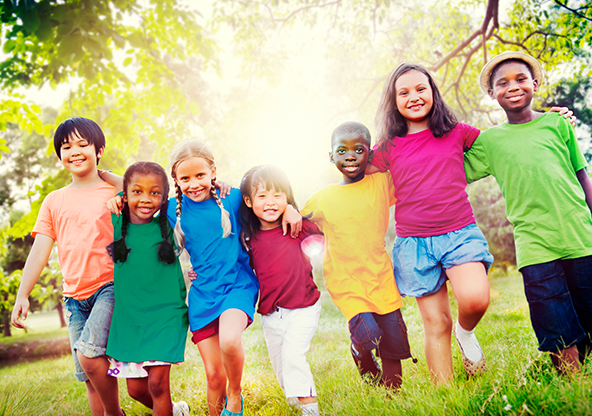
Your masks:
{"label": "smiling face of the blonde girl with braids", "polygon": [[183,195],[195,202],[211,198],[212,181],[216,179],[216,167],[202,157],[191,157],[177,164],[175,182]]}

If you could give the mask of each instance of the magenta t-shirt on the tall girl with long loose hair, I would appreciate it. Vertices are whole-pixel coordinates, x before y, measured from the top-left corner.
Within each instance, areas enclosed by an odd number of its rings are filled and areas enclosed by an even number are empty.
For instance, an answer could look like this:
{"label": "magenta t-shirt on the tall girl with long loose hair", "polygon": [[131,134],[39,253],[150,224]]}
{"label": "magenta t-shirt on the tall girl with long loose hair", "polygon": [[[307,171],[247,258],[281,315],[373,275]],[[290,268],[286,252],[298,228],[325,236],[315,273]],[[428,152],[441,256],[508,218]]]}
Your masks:
{"label": "magenta t-shirt on the tall girl with long loose hair", "polygon": [[440,138],[426,129],[374,149],[372,164],[393,177],[399,237],[431,237],[475,222],[465,190],[463,154],[479,133],[458,123]]}

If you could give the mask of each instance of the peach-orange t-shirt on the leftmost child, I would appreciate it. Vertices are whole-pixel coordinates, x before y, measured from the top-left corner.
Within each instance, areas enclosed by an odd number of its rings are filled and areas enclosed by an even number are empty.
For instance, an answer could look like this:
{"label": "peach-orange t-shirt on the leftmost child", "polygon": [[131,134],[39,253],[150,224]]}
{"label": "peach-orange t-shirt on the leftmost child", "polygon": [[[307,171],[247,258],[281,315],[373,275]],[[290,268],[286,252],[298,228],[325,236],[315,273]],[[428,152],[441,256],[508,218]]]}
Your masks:
{"label": "peach-orange t-shirt on the leftmost child", "polygon": [[62,188],[43,201],[33,237],[43,234],[58,244],[63,295],[83,300],[113,281],[107,246],[113,241],[107,201],[115,188],[106,183]]}

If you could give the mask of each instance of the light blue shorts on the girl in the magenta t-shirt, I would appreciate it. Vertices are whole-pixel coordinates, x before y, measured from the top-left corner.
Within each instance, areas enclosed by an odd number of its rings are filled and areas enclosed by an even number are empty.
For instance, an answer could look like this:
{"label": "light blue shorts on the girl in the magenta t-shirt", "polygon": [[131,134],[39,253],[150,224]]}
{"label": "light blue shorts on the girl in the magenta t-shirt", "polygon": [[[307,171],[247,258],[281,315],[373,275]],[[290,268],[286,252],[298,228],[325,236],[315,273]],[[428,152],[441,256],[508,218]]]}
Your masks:
{"label": "light blue shorts on the girl in the magenta t-shirt", "polygon": [[446,269],[493,262],[487,240],[476,224],[432,237],[397,237],[393,247],[395,280],[402,296],[436,293],[446,282]]}

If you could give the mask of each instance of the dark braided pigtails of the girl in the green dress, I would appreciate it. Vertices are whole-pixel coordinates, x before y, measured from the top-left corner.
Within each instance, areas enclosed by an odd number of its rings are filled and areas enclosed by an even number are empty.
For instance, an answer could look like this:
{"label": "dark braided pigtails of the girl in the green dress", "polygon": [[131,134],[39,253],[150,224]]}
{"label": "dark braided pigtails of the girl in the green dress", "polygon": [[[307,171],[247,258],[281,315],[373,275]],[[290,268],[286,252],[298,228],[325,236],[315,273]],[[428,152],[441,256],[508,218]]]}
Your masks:
{"label": "dark braided pigtails of the girl in the green dress", "polygon": [[[162,235],[162,242],[158,245],[157,255],[158,259],[165,264],[173,264],[175,262],[175,249],[169,238],[168,219],[166,211],[168,207],[169,182],[164,169],[154,162],[137,162],[131,165],[123,175],[123,192],[127,192],[127,188],[134,175],[155,175],[162,180],[164,191],[162,194],[162,205],[160,207],[159,225],[160,233]],[[129,207],[127,203],[121,213],[121,238],[113,242],[113,261],[125,262],[127,255],[131,251],[125,243],[127,235],[127,226],[129,223]]]}

